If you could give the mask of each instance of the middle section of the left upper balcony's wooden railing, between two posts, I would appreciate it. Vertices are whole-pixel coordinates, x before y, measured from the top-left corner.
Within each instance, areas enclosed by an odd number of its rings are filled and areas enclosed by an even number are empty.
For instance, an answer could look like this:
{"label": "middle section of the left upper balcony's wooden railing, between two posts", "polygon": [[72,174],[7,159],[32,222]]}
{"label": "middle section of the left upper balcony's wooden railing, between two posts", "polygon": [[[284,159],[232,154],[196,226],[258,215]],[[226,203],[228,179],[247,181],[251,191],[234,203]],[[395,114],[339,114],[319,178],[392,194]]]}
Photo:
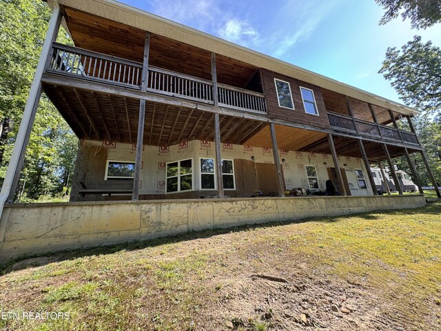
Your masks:
{"label": "middle section of the left upper balcony's wooden railing, between two posts", "polygon": [[149,67],[147,91],[213,103],[213,83],[187,74]]}

